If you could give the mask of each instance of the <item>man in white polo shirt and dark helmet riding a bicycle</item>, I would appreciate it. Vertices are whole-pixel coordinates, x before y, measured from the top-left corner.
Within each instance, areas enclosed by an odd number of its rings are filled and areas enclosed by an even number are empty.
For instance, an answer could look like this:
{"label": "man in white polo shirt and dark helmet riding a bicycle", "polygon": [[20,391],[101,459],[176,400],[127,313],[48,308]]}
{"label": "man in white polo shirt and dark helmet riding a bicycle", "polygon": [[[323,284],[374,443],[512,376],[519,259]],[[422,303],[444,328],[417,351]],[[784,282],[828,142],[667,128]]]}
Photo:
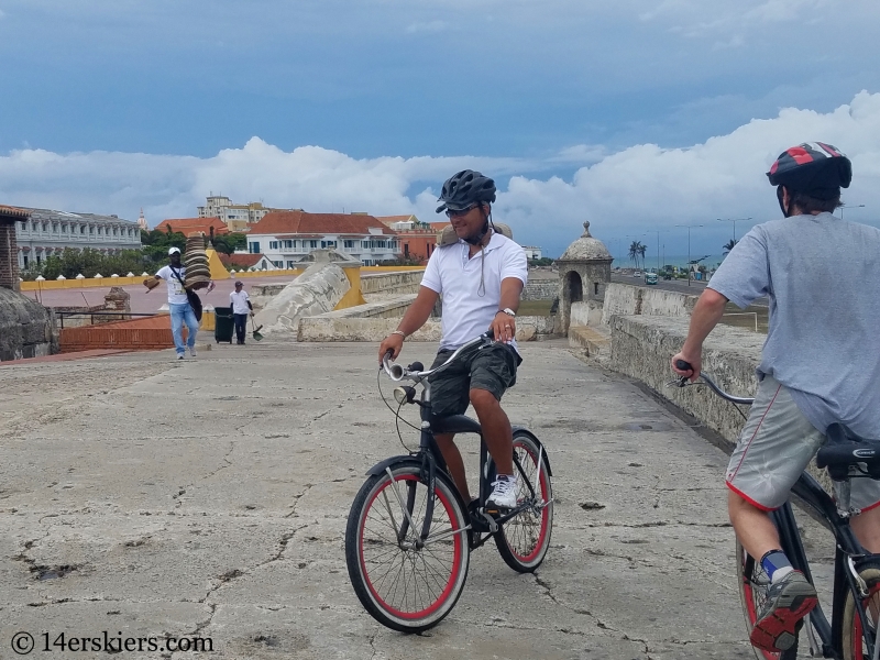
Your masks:
{"label": "man in white polo shirt and dark helmet riding a bicycle", "polygon": [[[446,210],[458,241],[438,245],[428,260],[418,296],[403,320],[378,349],[378,359],[396,359],[404,340],[421,328],[442,295],[440,352],[431,369],[490,328],[495,342],[463,353],[448,369],[431,376],[431,413],[462,415],[473,404],[483,428],[486,448],[498,476],[486,508],[510,509],[517,504],[517,477],[513,464],[513,430],[501,407],[505,391],[516,383],[521,359],[516,350],[516,311],[528,278],[526,253],[492,223],[495,182],[464,169],[444,184],[437,212]],[[471,501],[464,462],[454,435],[437,435],[437,444],[465,502]]]}

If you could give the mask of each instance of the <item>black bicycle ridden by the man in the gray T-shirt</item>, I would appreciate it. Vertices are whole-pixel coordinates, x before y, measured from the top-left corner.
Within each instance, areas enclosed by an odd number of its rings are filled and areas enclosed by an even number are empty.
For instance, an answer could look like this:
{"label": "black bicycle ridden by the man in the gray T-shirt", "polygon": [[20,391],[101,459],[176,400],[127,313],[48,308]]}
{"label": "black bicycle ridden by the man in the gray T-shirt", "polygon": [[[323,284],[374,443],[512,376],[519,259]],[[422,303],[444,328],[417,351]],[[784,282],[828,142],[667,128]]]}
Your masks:
{"label": "black bicycle ridden by the man in the gray T-shirt", "polygon": [[[675,366],[690,370],[691,365],[680,360]],[[734,404],[751,405],[754,399],[727,394],[706,374],[702,382],[688,383],[688,378],[675,378],[671,384],[679,387],[707,385],[715,394]],[[745,417],[745,416],[744,416]],[[853,433],[842,424],[828,427],[827,441],[816,454],[816,465],[827,469],[832,479],[834,498],[807,472],[792,487],[792,493],[807,507],[807,512],[831,531],[836,541],[834,557],[834,587],[832,595],[832,620],[822,609],[822,604],[807,614],[799,630],[793,634],[792,647],[781,653],[754,649],[759,660],[794,660],[798,657],[798,635],[805,634],[810,656],[836,658],[838,660],[878,660],[880,658],[880,554],[871,554],[861,547],[849,526],[849,518],[859,513],[850,507],[850,480],[880,480],[880,440],[869,440]],[[791,503],[771,512],[779,531],[780,544],[794,569],[802,571],[812,583],[813,574],[806,559],[804,544]],[[743,612],[749,632],[755,626],[757,613],[767,597],[770,585],[760,562],[736,543],[736,569]]]}

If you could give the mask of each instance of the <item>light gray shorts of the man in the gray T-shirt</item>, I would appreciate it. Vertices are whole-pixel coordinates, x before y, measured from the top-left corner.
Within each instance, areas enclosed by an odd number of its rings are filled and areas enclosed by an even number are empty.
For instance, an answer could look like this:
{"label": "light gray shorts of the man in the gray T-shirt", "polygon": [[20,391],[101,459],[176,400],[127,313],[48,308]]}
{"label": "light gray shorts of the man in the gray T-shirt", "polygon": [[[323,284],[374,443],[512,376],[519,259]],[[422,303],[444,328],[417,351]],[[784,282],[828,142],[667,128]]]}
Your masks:
{"label": "light gray shorts of the man in the gray T-shirt", "polygon": [[[765,376],[727,465],[727,487],[760,509],[779,508],[824,443],[789,388]],[[850,505],[867,510],[878,504],[880,482],[854,479]]]}

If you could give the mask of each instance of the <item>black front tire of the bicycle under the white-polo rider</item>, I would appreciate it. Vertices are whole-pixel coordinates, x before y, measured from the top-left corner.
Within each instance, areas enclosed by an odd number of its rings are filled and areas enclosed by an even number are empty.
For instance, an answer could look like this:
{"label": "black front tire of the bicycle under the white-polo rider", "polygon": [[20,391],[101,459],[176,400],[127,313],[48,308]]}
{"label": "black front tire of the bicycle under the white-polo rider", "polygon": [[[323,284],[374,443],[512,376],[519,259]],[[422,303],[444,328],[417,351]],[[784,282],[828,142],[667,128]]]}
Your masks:
{"label": "black front tire of the bicycle under the white-polo rider", "polygon": [[[415,474],[416,476],[419,476],[421,472],[419,465],[414,463],[396,463],[392,464],[389,469],[394,476],[398,476],[400,474]],[[468,581],[468,570],[470,568],[470,544],[468,542],[468,535],[461,535],[463,565],[459,570],[460,575],[455,579],[453,592],[449,595],[442,607],[440,607],[437,613],[432,613],[429,617],[427,617],[426,620],[419,619],[404,622],[399,617],[389,615],[387,610],[378,605],[372,597],[370,587],[366,583],[366,578],[363,575],[361,570],[360,561],[360,529],[362,516],[365,515],[364,507],[367,503],[367,498],[377,487],[377,484],[382,483],[383,481],[388,481],[388,475],[385,472],[371,475],[370,479],[364,482],[363,486],[361,486],[361,490],[358,492],[358,495],[351,505],[349,520],[345,526],[345,563],[348,564],[349,569],[349,579],[354,587],[354,593],[356,594],[358,600],[361,602],[361,605],[363,605],[364,609],[366,609],[367,613],[383,626],[399,632],[422,632],[429,628],[433,628],[441,620],[443,620],[443,618],[446,618],[455,607],[455,603],[464,591],[464,585]],[[425,483],[425,481],[420,477],[419,482],[422,484]],[[457,496],[455,486],[452,483],[452,480],[450,480],[442,472],[438,472],[435,484],[436,488],[442,490],[441,492],[443,492],[444,496],[449,498],[450,504],[455,509],[455,514],[459,518],[459,525],[462,528],[468,527],[470,520],[466,512],[462,509],[461,502]]]}

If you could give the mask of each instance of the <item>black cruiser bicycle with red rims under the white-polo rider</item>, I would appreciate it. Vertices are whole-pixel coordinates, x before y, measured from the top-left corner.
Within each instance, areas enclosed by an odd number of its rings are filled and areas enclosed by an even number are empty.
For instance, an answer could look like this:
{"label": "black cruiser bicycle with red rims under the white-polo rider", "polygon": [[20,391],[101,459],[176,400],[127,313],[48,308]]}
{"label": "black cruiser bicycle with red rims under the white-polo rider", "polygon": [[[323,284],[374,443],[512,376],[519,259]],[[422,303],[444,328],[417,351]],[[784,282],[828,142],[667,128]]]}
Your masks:
{"label": "black cruiser bicycle with red rims under the white-polo rider", "polygon": [[[534,572],[541,564],[550,546],[552,473],[538,438],[522,427],[514,427],[517,506],[490,512],[486,501],[495,480],[495,464],[480,424],[464,415],[431,414],[429,376],[447,369],[464,351],[492,341],[491,332],[482,334],[429,371],[424,371],[419,362],[407,367],[392,363],[387,356],[383,362],[382,370],[392,381],[414,383],[395,389],[395,417],[399,425],[404,405],[419,406],[421,427],[414,428],[420,431],[420,442],[418,450],[386,459],[367,471],[369,479],[349,514],[345,562],[361,604],[394,630],[421,632],[439,624],[464,588],[471,550],[490,538],[495,540],[507,565],[524,573]],[[417,386],[421,387],[420,396]],[[480,436],[480,487],[473,502],[462,499],[435,433]]]}

